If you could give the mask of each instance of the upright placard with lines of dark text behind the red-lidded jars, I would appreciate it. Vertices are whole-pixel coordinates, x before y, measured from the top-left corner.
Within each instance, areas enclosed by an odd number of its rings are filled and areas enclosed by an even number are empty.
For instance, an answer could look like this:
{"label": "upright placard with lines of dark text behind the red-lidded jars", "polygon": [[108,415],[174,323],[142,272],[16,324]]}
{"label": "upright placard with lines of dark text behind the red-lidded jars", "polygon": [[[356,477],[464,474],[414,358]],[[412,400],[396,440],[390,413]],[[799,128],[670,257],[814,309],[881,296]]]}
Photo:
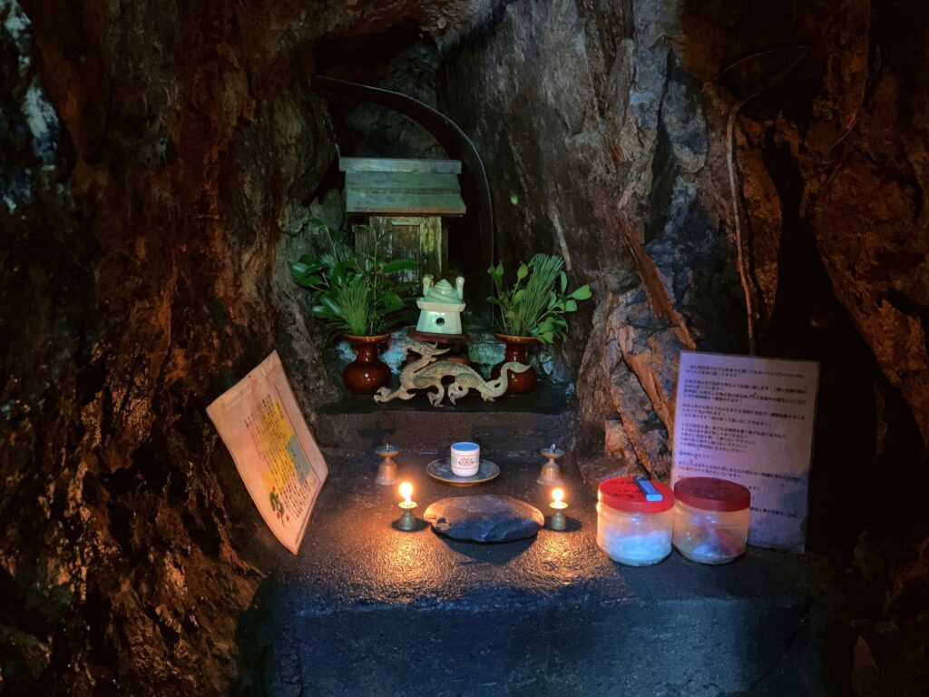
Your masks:
{"label": "upright placard with lines of dark text behind the red-lidded jars", "polygon": [[681,352],[672,485],[738,481],[752,492],[749,544],[803,553],[819,363]]}

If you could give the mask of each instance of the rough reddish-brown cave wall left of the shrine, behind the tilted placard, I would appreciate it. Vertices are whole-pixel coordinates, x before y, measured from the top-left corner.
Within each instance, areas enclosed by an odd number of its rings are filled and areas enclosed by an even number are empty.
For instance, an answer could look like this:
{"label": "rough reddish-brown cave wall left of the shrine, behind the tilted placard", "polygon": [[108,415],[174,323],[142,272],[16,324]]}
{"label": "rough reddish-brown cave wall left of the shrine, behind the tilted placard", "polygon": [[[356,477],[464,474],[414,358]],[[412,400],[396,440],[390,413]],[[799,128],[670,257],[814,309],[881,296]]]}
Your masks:
{"label": "rough reddish-brown cave wall left of the shrine, behind the tilted placard", "polygon": [[208,5],[0,4],[5,693],[235,673],[262,559],[204,408],[274,347],[311,367],[279,250],[334,151]]}

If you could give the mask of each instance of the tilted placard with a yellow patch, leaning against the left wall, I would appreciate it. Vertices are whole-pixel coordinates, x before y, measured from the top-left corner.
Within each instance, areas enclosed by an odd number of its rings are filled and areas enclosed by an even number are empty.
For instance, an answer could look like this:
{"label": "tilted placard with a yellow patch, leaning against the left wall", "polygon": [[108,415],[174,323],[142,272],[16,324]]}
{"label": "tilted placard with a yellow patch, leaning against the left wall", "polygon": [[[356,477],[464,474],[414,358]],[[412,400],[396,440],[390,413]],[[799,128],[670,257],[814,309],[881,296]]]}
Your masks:
{"label": "tilted placard with a yellow patch, leaning against the left wall", "polygon": [[206,408],[271,532],[294,554],[329,474],[277,351]]}

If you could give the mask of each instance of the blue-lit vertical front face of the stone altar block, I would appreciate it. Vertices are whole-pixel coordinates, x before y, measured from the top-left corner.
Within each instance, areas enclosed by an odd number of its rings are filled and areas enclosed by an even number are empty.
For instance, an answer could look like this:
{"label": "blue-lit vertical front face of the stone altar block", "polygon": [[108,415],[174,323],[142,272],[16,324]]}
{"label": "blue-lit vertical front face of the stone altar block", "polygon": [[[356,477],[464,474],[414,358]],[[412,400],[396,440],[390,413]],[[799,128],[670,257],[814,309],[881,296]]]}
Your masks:
{"label": "blue-lit vertical front face of the stone altar block", "polygon": [[297,614],[280,618],[291,640],[267,645],[265,666],[245,672],[239,693],[844,694],[842,677],[821,669],[804,690],[808,674],[787,658],[804,618],[803,603],[745,599]]}

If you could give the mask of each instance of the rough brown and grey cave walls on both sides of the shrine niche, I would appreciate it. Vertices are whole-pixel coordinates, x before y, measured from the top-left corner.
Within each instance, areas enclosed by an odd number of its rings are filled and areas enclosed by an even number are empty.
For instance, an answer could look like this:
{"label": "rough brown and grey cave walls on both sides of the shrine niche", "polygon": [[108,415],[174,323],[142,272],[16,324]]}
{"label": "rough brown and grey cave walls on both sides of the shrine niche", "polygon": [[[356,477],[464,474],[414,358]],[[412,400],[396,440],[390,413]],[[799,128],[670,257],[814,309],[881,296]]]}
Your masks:
{"label": "rough brown and grey cave walls on both sides of the shrine niche", "polygon": [[[759,349],[823,359],[819,525],[872,530],[859,692],[887,693],[901,638],[924,648],[924,533],[899,534],[929,428],[921,3],[20,3],[0,0],[5,690],[224,690],[268,552],[203,410],[277,347],[312,420],[326,383],[283,261],[334,149],[303,76],[319,41],[403,23],[441,50],[506,265],[556,252],[595,286],[565,347],[582,444],[614,455],[591,480],[666,474],[677,351],[745,349],[726,125],[748,99]],[[912,485],[875,507],[890,467]]]}

